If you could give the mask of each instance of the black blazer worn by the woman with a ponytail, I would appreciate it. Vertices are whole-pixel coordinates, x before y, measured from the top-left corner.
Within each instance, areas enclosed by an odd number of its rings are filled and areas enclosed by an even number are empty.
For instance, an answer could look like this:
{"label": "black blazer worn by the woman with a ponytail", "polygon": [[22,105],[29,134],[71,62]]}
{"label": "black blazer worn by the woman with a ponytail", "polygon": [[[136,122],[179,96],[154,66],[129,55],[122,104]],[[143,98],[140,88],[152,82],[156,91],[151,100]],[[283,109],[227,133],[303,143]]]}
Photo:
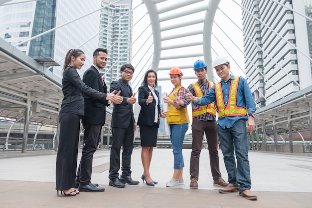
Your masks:
{"label": "black blazer worn by the woman with a ponytail", "polygon": [[88,87],[80,79],[77,69],[73,66],[68,66],[65,69],[62,84],[64,98],[60,113],[73,113],[83,116],[85,112],[83,94],[97,98],[103,102],[105,101],[106,94]]}

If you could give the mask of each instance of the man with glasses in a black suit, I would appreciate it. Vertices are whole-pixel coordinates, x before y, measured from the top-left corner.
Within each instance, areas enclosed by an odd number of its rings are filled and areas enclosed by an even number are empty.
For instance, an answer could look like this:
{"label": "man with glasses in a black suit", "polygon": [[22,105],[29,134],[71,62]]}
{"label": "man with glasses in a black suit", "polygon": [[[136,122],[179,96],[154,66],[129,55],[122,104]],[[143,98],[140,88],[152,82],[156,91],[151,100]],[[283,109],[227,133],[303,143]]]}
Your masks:
{"label": "man with glasses in a black suit", "polygon": [[[109,185],[123,188],[126,183],[137,185],[140,182],[131,178],[131,155],[133,150],[133,137],[136,130],[135,118],[133,115],[133,104],[137,101],[136,93],[132,94],[129,81],[133,77],[135,68],[131,64],[125,64],[120,68],[121,79],[111,83],[110,91],[120,93],[123,97],[121,104],[114,104],[112,115],[112,148],[110,158]],[[120,149],[123,146],[122,175],[119,179]]]}

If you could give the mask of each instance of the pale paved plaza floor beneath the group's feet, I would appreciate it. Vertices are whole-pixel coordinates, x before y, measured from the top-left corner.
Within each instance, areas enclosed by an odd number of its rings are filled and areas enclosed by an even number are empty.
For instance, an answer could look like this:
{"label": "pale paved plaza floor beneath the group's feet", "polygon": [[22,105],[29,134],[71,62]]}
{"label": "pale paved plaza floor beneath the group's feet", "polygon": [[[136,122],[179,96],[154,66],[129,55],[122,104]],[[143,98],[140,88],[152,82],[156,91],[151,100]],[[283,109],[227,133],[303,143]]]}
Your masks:
{"label": "pale paved plaza floor beneath the group's feet", "polygon": [[[105,192],[81,192],[75,197],[56,195],[54,151],[0,152],[0,208],[312,208],[312,154],[251,151],[251,191],[258,200],[248,201],[238,193],[219,194],[212,186],[207,150],[201,153],[199,189],[190,190],[190,152],[183,149],[184,185],[166,188],[173,173],[172,151],[155,149],[151,175],[159,184],[153,188],[142,183],[141,149],[134,149],[132,178],[140,184],[120,189],[108,186],[110,152],[97,151],[92,182]],[[219,157],[227,180],[221,151]]]}

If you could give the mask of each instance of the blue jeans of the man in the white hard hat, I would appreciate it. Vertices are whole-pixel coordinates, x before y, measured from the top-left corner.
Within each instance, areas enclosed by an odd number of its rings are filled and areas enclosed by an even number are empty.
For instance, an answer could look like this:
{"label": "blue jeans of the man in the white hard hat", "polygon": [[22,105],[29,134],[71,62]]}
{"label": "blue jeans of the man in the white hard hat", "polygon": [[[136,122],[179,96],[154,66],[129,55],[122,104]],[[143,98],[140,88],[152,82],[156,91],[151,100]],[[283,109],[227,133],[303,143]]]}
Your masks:
{"label": "blue jeans of the man in the white hard hat", "polygon": [[[246,120],[240,119],[233,127],[226,129],[222,129],[218,125],[217,129],[229,183],[238,186],[239,190],[250,189]],[[235,162],[234,150],[237,163]]]}

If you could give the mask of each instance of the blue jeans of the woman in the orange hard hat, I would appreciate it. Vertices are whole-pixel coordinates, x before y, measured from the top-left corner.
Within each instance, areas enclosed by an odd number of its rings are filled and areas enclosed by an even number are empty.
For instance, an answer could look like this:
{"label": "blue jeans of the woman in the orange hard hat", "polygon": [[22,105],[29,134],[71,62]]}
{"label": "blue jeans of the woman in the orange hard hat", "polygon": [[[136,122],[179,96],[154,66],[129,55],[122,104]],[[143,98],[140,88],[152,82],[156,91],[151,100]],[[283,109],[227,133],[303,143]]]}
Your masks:
{"label": "blue jeans of the woman in the orange hard hat", "polygon": [[187,129],[188,124],[170,124],[170,140],[174,156],[173,169],[180,170],[184,168],[182,145]]}

